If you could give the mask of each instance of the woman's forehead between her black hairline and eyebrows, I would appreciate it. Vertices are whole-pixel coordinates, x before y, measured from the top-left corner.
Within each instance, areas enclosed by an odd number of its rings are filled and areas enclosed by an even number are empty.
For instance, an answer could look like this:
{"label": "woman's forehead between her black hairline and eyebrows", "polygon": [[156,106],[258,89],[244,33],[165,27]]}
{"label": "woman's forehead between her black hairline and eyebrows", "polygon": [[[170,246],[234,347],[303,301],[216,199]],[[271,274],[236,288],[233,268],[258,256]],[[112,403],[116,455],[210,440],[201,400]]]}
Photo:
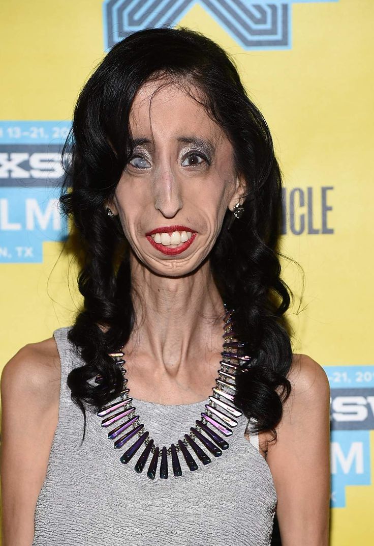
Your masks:
{"label": "woman's forehead between her black hairline and eyebrows", "polygon": [[[195,98],[194,98],[195,97]],[[195,100],[197,99],[197,100]],[[173,81],[146,82],[133,100],[130,127],[134,137],[151,134],[167,137],[189,133],[209,136],[214,143],[227,140],[219,125],[200,104],[197,88],[185,88]]]}

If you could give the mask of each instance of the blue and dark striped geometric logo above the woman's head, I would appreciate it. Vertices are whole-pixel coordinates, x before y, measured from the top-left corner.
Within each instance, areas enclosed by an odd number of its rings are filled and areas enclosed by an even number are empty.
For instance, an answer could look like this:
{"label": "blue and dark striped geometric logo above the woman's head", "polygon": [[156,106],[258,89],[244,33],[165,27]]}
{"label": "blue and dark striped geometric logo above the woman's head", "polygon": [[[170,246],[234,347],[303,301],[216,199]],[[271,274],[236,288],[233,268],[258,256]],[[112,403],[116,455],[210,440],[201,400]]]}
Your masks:
{"label": "blue and dark striped geometric logo above the woman's head", "polygon": [[339,0],[105,0],[105,49],[132,32],[150,27],[174,27],[200,4],[243,49],[290,49],[294,3]]}

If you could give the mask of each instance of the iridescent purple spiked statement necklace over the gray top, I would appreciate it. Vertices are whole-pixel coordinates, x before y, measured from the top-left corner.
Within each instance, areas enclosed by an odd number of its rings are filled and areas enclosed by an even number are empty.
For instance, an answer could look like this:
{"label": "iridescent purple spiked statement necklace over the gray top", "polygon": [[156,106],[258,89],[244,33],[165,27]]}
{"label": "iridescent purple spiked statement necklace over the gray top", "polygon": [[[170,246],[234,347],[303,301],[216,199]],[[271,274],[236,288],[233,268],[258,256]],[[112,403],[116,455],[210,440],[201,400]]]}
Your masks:
{"label": "iridescent purple spiked statement necklace over the gray top", "polygon": [[[137,440],[120,458],[123,464],[127,464],[140,447],[145,446],[134,466],[136,472],[143,472],[151,453],[152,456],[147,471],[147,476],[150,479],[155,479],[156,477],[159,459],[161,459],[160,478],[168,478],[170,467],[169,456],[171,456],[171,467],[173,468],[174,476],[182,476],[178,454],[182,454],[190,471],[197,470],[197,462],[188,448],[192,449],[203,465],[209,464],[211,462],[210,456],[195,442],[195,438],[198,438],[207,452],[214,457],[219,457],[222,455],[223,450],[229,448],[229,443],[217,431],[223,436],[229,437],[232,435],[232,428],[235,428],[238,424],[235,418],[240,417],[242,412],[234,406],[234,393],[236,391],[235,376],[238,370],[241,369],[241,366],[248,364],[250,357],[245,355],[247,343],[236,340],[236,335],[232,329],[233,311],[229,311],[225,305],[225,312],[222,360],[220,360],[216,387],[213,387],[212,395],[209,397],[210,401],[205,405],[205,411],[201,412],[201,418],[196,420],[195,426],[191,426],[189,434],[185,434],[182,440],[172,443],[170,447],[163,446],[160,449],[160,447],[155,446],[154,440],[149,436],[149,432],[144,432],[144,424],[139,424],[139,416],[135,414],[136,408],[131,405],[132,398],[128,397],[129,389],[126,388],[126,370],[122,366],[125,364],[124,352],[119,350],[115,353],[109,353],[109,356],[113,358],[115,363],[121,366],[124,388],[120,393],[120,401],[101,408],[97,416],[105,417],[101,422],[101,426],[105,428],[118,423],[122,418],[127,419],[126,422],[110,430],[108,438],[110,440],[117,438],[114,442],[114,448],[120,449],[133,436],[138,436]],[[102,376],[97,375],[95,382],[100,383],[101,381]],[[117,410],[120,411],[114,413]],[[213,429],[208,425],[213,426]],[[125,432],[124,435],[122,435],[123,432]]]}

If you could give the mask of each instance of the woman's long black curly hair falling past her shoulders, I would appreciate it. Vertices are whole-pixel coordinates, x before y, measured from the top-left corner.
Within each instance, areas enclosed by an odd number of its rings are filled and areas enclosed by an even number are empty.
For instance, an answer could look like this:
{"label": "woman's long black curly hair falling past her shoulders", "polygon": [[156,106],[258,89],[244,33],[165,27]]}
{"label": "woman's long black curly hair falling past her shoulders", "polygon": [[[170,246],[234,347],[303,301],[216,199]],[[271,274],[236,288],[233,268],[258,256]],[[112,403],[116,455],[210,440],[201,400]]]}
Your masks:
{"label": "woman's long black curly hair falling past her shoulders", "polygon": [[[84,415],[83,440],[85,406],[97,411],[122,390],[121,371],[108,353],[128,341],[135,323],[130,246],[118,216],[108,217],[104,205],[132,156],[133,99],[152,79],[199,91],[196,100],[230,140],[236,173],[246,180],[243,216],[228,230],[232,213],[226,212],[209,261],[222,300],[235,310],[238,337],[252,355],[237,378],[235,405],[256,420],[257,432],[272,431],[275,440],[291,392],[285,312],[293,296],[280,276],[282,187],[271,134],[230,56],[201,33],[168,27],[134,32],[108,52],[79,94],[63,149],[60,206],[72,219],[83,256],[78,287],[84,304],[69,340],[85,365],[68,376],[71,398]],[[88,381],[97,374],[101,383]]]}

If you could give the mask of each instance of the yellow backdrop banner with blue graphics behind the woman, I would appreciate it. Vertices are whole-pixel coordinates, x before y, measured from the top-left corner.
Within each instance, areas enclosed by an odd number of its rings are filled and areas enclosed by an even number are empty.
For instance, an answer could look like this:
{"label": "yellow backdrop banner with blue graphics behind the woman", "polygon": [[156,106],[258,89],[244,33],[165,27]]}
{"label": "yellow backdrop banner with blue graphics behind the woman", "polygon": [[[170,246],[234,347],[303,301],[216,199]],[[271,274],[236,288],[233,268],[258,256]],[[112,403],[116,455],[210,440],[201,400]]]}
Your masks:
{"label": "yellow backdrop banner with blue graphics behind the woman", "polygon": [[305,274],[284,260],[296,296],[294,351],[317,360],[331,385],[333,546],[374,541],[373,20],[372,0],[0,7],[0,367],[71,324],[81,302],[58,209],[60,150],[79,89],[130,32],[181,25],[205,33],[234,56],[283,171],[281,250]]}

